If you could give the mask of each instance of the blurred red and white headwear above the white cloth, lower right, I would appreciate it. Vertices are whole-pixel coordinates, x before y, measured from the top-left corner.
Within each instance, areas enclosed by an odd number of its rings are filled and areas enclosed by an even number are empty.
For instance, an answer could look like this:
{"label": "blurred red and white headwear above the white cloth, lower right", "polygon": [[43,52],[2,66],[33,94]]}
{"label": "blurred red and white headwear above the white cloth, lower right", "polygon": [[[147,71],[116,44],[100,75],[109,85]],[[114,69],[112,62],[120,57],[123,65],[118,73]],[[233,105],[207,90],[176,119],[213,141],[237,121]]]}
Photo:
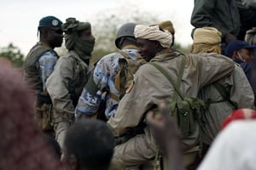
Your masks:
{"label": "blurred red and white headwear above the white cloth, lower right", "polygon": [[230,124],[230,122],[247,119],[256,119],[256,111],[250,109],[239,109],[233,111],[231,115],[224,120],[221,128],[224,129],[228,124]]}

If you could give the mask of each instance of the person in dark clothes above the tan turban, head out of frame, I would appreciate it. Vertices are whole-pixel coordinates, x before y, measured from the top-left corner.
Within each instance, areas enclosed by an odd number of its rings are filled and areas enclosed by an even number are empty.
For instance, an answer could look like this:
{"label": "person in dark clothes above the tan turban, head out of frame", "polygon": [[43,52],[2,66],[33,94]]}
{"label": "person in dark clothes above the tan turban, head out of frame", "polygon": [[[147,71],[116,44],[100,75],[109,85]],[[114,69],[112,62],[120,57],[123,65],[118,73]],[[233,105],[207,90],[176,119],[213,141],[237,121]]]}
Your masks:
{"label": "person in dark clothes above the tan turban, head out of frame", "polygon": [[[222,35],[222,54],[226,45],[236,40],[241,22],[236,0],[195,0],[190,23],[195,28],[212,26]],[[194,34],[192,31],[192,35]]]}

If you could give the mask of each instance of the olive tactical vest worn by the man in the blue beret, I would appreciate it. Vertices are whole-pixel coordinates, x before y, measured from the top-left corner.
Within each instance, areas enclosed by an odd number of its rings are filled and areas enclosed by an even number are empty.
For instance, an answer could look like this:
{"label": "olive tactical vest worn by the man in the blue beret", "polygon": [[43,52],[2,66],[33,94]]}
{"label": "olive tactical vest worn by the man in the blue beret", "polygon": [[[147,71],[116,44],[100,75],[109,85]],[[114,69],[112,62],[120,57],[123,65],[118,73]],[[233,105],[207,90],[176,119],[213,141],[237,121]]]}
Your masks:
{"label": "olive tactical vest worn by the man in the blue beret", "polygon": [[[38,59],[42,56],[42,54],[47,51],[55,53],[52,48],[44,46],[43,44],[38,42],[26,55],[26,59],[23,65],[26,82],[29,82],[30,85],[32,85],[32,88],[35,89],[37,92],[43,91],[43,82],[40,78]],[[56,54],[56,56],[58,55]]]}

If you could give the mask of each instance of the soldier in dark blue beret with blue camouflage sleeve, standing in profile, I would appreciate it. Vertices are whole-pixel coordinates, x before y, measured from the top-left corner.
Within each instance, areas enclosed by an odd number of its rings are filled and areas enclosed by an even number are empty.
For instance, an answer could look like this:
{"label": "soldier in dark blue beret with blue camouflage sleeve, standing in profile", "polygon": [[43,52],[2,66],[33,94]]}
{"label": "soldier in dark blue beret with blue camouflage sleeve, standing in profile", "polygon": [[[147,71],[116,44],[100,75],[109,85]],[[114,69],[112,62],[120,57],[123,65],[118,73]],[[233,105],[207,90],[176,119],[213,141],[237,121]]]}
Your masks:
{"label": "soldier in dark blue beret with blue camouflage sleeve, standing in profile", "polygon": [[37,95],[37,121],[44,131],[51,131],[47,119],[48,109],[51,104],[49,95],[45,90],[45,82],[54,70],[55,63],[59,58],[54,48],[61,47],[63,41],[62,22],[55,16],[46,16],[39,21],[39,42],[32,47],[26,55],[23,65],[25,80],[32,86]]}

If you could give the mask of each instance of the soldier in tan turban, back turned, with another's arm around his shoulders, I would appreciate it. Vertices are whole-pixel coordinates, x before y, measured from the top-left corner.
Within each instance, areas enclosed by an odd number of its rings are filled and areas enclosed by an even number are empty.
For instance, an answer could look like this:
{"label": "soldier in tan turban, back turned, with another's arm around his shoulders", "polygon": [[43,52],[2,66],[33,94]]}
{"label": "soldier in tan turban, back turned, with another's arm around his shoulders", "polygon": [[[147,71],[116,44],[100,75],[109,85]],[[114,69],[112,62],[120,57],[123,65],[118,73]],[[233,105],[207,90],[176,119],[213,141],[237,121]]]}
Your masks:
{"label": "soldier in tan turban, back turned, with another's arm around his shoulders", "polygon": [[[197,28],[191,53],[220,54],[220,42],[221,33],[216,28]],[[204,123],[201,129],[203,148],[206,151],[220,131],[226,116],[236,109],[254,107],[253,90],[239,65],[235,65],[230,76],[202,88],[199,96],[207,104],[205,114],[202,115]]]}

